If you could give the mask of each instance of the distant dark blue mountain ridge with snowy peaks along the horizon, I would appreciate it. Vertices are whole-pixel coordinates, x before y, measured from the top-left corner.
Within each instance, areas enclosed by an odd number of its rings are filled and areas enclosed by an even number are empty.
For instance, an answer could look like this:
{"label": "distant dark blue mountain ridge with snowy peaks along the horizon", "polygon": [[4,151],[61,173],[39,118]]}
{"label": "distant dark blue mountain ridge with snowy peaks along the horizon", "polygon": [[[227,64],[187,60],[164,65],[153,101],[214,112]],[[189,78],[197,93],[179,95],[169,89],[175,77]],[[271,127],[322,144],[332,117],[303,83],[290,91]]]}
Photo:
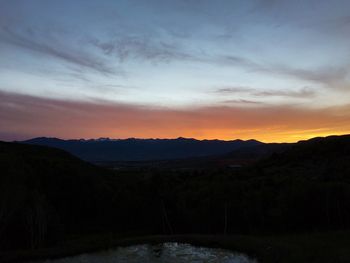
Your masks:
{"label": "distant dark blue mountain ridge with snowy peaks along the horizon", "polygon": [[263,145],[256,140],[177,139],[77,139],[38,137],[22,143],[63,149],[90,162],[170,160],[227,154],[232,151]]}

